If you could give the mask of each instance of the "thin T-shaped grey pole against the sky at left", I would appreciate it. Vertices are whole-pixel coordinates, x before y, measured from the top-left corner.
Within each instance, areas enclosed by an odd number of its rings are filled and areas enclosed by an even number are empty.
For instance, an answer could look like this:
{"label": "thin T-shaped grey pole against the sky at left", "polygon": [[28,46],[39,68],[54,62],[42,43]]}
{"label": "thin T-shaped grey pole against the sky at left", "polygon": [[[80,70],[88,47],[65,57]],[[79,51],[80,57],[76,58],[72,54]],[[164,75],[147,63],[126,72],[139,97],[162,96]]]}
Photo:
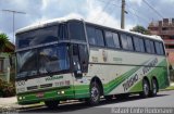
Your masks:
{"label": "thin T-shaped grey pole against the sky at left", "polygon": [[2,10],[2,12],[9,12],[9,13],[12,13],[12,15],[13,15],[13,43],[14,43],[14,29],[15,29],[15,14],[17,13],[17,14],[26,14],[25,12],[18,12],[18,11],[14,11],[14,10]]}

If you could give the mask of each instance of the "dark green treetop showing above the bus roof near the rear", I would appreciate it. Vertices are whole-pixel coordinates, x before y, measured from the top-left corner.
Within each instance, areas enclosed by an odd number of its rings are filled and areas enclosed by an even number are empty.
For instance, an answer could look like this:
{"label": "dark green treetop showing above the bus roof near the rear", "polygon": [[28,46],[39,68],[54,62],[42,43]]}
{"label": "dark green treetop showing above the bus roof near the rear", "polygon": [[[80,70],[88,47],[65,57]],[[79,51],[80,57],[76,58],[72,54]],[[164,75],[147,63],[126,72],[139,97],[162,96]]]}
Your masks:
{"label": "dark green treetop showing above the bus roof near the rear", "polygon": [[137,25],[137,26],[133,27],[133,29],[130,29],[130,31],[140,33],[140,34],[145,34],[145,35],[150,35],[150,31],[148,29],[146,29],[144,26],[140,26],[140,25]]}

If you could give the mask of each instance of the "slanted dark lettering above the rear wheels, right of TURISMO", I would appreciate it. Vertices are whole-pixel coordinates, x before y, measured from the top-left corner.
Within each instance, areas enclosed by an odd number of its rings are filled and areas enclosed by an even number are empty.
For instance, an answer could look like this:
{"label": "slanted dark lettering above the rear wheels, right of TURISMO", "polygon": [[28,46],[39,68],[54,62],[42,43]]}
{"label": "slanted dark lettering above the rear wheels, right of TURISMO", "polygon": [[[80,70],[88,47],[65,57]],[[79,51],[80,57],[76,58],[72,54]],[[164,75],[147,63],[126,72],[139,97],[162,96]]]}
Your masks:
{"label": "slanted dark lettering above the rear wheels, right of TURISMO", "polygon": [[156,58],[156,59],[152,60],[147,66],[145,66],[145,67],[142,68],[144,75],[145,75],[146,73],[148,73],[153,66],[156,66],[157,63],[158,63],[158,59]]}

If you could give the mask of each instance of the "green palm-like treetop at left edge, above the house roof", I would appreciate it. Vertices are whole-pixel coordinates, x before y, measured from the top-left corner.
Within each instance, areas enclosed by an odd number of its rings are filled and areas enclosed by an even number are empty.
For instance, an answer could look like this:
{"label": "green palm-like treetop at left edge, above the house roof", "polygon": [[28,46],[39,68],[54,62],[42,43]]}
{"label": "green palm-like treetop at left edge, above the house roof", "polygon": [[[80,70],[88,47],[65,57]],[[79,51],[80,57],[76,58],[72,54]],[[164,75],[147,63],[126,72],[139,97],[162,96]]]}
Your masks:
{"label": "green palm-like treetop at left edge, above the house roof", "polygon": [[5,34],[0,34],[0,52],[4,50],[4,47],[7,46],[8,41],[8,36]]}

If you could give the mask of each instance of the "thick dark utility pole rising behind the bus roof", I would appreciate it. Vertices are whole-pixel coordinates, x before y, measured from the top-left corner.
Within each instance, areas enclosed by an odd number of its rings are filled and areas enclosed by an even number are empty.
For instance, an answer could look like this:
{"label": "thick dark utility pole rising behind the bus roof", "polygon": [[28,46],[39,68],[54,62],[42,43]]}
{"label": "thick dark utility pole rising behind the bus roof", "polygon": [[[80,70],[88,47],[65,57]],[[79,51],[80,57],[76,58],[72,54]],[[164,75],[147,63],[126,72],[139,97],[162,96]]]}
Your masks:
{"label": "thick dark utility pole rising behind the bus roof", "polygon": [[125,0],[122,0],[122,10],[121,10],[121,28],[124,29],[125,26]]}

